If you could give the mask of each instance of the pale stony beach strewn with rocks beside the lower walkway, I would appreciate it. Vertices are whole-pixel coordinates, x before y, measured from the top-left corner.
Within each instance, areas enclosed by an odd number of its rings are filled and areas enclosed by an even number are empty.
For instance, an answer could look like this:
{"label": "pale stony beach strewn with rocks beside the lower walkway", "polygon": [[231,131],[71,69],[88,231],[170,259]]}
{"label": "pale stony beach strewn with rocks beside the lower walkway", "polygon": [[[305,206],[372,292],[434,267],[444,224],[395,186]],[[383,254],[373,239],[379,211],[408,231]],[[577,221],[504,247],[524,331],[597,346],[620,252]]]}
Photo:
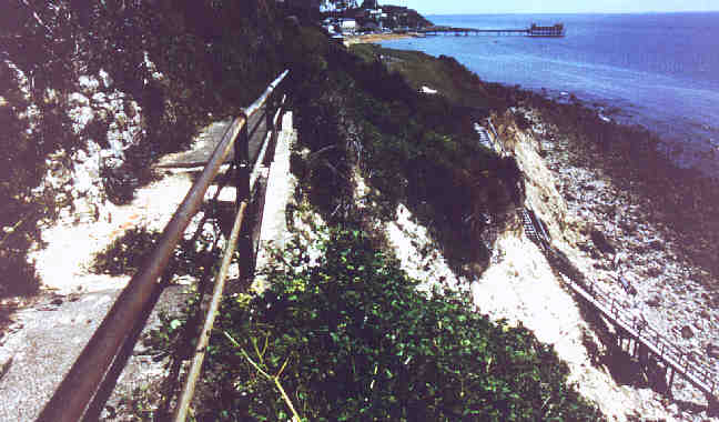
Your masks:
{"label": "pale stony beach strewn with rocks beside the lower walkway", "polygon": [[[521,134],[510,123],[516,115],[528,123]],[[655,208],[656,190],[641,189],[654,181],[621,178],[620,174],[626,175],[630,170],[618,172],[611,154],[598,159],[591,144],[577,142],[569,131],[548,124],[547,120],[541,109],[530,107],[510,108],[497,119],[505,137],[529,143],[551,172],[555,185],[541,189],[556,189],[561,197],[560,208],[566,207],[554,212],[566,218],[561,242],[570,250],[573,263],[605,292],[627,308],[637,309],[659,332],[690,351],[691,361],[719,373],[716,272],[699,264],[701,255],[697,257],[696,249],[687,245],[681,225],[672,224],[676,215]],[[671,171],[671,163],[664,165]],[[539,185],[545,182],[549,181],[533,181]],[[689,183],[697,185],[698,181],[689,180]],[[667,187],[666,194],[681,194],[675,189]],[[546,195],[543,199],[550,202]],[[622,287],[621,278],[629,281],[629,289]],[[661,390],[660,385],[649,386]],[[674,400],[664,394],[652,394],[651,399],[666,405],[668,416],[681,421],[708,420],[706,399],[698,390],[678,378],[671,392]]]}

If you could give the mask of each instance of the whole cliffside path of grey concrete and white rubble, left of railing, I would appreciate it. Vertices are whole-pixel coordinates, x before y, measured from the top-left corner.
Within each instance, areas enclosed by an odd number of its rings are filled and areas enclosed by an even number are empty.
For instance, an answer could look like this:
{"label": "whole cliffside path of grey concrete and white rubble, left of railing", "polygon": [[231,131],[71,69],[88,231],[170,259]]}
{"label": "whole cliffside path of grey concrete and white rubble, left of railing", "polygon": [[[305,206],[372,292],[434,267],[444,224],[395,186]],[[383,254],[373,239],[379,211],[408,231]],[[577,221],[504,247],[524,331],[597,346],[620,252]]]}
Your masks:
{"label": "whole cliffside path of grey concrete and white rubble, left of railing", "polygon": [[[255,115],[250,128],[256,123],[260,125],[250,144],[251,158],[257,154],[265,137],[264,119]],[[192,150],[166,155],[160,162],[203,165],[229,124],[230,120],[209,125]],[[89,273],[87,267],[93,253],[130,228],[162,230],[191,182],[186,174],[168,173],[162,181],[139,191],[132,204],[113,208],[112,222],[59,222],[43,233],[49,245],[34,258],[44,288],[51,290],[41,291],[33,304],[14,312],[8,329],[0,332],[0,422],[33,421],[39,415],[129,280]],[[160,311],[174,313],[181,308],[184,290],[179,285],[163,292],[143,335],[156,325]],[[135,348],[119,380],[114,401],[136,386],[162,379],[163,362],[153,362],[143,349],[141,344]]]}

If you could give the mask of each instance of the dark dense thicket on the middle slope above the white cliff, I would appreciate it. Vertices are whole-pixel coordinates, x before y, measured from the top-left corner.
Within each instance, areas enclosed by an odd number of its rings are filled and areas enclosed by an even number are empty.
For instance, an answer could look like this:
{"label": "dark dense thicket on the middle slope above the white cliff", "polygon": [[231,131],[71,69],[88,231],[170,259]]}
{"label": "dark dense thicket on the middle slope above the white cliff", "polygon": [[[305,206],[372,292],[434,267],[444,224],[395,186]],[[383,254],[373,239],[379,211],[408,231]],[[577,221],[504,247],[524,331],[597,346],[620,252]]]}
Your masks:
{"label": "dark dense thicket on the middle slope above the white cliff", "polygon": [[[300,141],[310,157],[322,155],[304,179],[310,200],[326,221],[346,220],[358,168],[374,188],[378,207],[372,212],[394,219],[397,204],[406,204],[432,229],[453,268],[483,269],[489,251],[476,240],[488,215],[504,222],[520,200],[516,164],[477,142],[477,109],[419,94],[399,72],[368,60],[374,49],[358,51],[364,56],[331,50],[322,76],[294,92]],[[438,61],[443,74],[462,71],[446,61]],[[462,86],[478,83],[466,79]]]}

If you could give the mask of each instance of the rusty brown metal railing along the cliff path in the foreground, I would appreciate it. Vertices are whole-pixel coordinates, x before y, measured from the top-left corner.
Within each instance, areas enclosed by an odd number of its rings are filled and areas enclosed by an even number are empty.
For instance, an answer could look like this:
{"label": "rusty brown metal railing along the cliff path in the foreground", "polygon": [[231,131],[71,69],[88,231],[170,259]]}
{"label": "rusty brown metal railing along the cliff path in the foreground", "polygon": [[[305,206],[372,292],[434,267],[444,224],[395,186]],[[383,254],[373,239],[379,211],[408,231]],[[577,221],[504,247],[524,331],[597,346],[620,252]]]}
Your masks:
{"label": "rusty brown metal railing along the cliff path in the foreground", "polygon": [[[97,329],[80,356],[55,390],[53,396],[45,404],[38,418],[38,422],[75,422],[79,420],[97,420],[104,403],[112,393],[117,379],[126,364],[129,356],[138,341],[142,329],[146,324],[150,313],[154,309],[163,288],[172,278],[171,271],[165,271],[178,243],[192,218],[198,213],[204,202],[205,192],[211,185],[221,167],[229,158],[234,145],[234,168],[236,182],[236,218],[231,239],[224,251],[222,269],[215,279],[215,293],[212,304],[219,303],[222,295],[222,285],[226,274],[226,264],[234,253],[239,227],[250,200],[250,153],[247,122],[263,107],[266,111],[266,125],[270,133],[270,143],[276,141],[274,123],[277,114],[271,110],[276,102],[275,90],[285,79],[288,70],[282,72],[264,91],[264,93],[244,110],[242,115],[235,118],[225,131],[222,140],[212,153],[202,173],[193,183],[182,203],[166,224],[158,245],[152,251],[146,262],[130,280],[120,293],[114,304]],[[273,147],[269,147],[272,149]],[[265,148],[261,149],[263,154]],[[244,251],[243,251],[244,249]],[[241,253],[252,253],[251,245],[241,247]],[[226,261],[226,264],[225,264]],[[219,291],[217,291],[219,290]],[[216,298],[215,298],[216,297]],[[205,344],[209,331],[214,321],[214,310],[211,307],[203,328],[201,344]],[[200,365],[202,361],[200,360]],[[199,368],[195,372],[199,371]],[[189,378],[190,379],[190,378]],[[196,379],[196,376],[195,376]],[[184,390],[193,390],[185,386]],[[191,393],[190,393],[191,395]],[[183,399],[184,400],[184,399]],[[188,400],[185,400],[188,401]],[[181,413],[180,406],[175,413]]]}

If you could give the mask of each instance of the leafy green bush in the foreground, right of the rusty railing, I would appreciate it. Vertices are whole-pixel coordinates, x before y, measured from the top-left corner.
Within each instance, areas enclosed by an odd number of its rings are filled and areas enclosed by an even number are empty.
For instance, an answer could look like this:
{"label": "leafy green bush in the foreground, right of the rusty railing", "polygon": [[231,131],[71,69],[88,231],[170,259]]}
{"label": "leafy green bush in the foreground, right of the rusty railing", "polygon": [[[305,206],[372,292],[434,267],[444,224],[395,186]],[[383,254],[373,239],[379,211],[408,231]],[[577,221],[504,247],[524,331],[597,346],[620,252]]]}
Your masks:
{"label": "leafy green bush in the foreground, right of the rusty railing", "polygon": [[225,300],[199,421],[290,419],[275,375],[307,421],[602,419],[526,329],[492,323],[457,293],[418,292],[360,229],[316,247],[316,265],[291,247],[270,290]]}

